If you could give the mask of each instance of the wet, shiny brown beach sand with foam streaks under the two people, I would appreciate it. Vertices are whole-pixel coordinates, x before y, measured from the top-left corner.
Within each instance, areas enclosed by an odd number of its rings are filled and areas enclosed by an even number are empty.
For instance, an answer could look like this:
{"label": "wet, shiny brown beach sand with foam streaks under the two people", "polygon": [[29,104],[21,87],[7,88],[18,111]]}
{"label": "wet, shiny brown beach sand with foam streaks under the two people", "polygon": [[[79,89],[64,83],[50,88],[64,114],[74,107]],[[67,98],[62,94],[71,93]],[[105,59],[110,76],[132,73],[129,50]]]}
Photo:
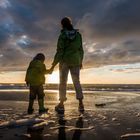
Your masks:
{"label": "wet, shiny brown beach sand with foam streaks under the two people", "polygon": [[85,93],[85,112],[78,112],[74,93],[65,113],[54,111],[58,94],[46,92],[47,114],[26,113],[26,92],[0,92],[0,140],[140,140],[140,93]]}

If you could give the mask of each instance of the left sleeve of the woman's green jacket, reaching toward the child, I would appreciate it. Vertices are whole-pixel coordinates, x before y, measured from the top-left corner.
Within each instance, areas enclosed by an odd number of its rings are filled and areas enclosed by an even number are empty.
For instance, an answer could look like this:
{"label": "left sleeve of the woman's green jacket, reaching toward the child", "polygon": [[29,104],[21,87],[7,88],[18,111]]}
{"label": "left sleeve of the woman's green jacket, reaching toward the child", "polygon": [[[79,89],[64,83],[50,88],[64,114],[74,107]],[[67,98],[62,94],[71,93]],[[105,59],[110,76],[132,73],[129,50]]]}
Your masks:
{"label": "left sleeve of the woman's green jacket, reaching toward the child", "polygon": [[54,56],[52,66],[57,65],[62,60],[64,54],[64,47],[64,38],[62,37],[62,35],[60,35],[57,41],[57,50]]}

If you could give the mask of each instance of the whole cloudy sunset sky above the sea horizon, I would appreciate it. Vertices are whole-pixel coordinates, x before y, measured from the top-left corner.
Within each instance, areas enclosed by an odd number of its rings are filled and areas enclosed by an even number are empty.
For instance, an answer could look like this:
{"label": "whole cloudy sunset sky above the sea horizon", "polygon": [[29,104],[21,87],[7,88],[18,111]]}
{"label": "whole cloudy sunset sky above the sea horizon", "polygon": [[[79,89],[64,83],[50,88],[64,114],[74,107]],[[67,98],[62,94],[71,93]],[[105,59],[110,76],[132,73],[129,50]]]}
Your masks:
{"label": "whole cloudy sunset sky above the sea horizon", "polygon": [[[0,0],[0,83],[24,82],[39,52],[50,68],[69,16],[83,38],[81,83],[139,84],[139,7],[139,0]],[[58,67],[46,82],[59,82]]]}

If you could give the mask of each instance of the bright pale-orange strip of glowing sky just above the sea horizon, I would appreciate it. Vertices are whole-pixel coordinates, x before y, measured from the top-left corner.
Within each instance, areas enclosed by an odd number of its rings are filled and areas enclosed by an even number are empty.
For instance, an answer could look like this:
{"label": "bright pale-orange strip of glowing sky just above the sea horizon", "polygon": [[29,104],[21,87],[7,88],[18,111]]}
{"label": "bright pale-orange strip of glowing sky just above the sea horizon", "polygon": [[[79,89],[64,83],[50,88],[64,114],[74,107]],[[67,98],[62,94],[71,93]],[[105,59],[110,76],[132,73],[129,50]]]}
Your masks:
{"label": "bright pale-orange strip of glowing sky just above the sea horizon", "polygon": [[[139,84],[140,75],[139,69],[137,71],[128,70],[120,71],[117,69],[110,70],[112,66],[82,69],[80,74],[81,83],[85,84]],[[51,75],[47,74],[46,83],[59,83],[59,71],[54,71]],[[25,71],[2,72],[0,73],[0,83],[25,83]],[[71,76],[68,76],[68,83],[72,83]]]}

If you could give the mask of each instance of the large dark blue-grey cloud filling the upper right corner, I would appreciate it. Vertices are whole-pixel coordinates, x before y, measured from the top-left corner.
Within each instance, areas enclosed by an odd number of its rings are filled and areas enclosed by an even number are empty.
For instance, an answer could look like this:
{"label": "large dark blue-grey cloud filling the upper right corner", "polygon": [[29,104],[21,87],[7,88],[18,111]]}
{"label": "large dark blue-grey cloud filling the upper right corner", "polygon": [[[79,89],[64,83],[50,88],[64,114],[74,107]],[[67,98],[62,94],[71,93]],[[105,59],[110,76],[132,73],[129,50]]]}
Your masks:
{"label": "large dark blue-grey cloud filling the upper right corner", "polygon": [[78,25],[90,39],[139,35],[139,6],[137,0],[100,1],[98,9],[85,13]]}

